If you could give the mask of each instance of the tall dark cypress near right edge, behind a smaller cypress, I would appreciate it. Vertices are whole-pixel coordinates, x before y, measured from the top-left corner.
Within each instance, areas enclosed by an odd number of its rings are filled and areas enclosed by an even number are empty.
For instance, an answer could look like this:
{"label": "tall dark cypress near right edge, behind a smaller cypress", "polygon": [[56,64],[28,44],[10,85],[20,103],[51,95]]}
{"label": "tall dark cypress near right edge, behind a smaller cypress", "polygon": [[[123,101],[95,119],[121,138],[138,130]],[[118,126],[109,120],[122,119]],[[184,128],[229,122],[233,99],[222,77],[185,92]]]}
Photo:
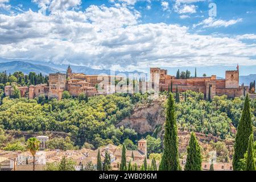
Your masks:
{"label": "tall dark cypress near right edge, behind a smaller cypress", "polygon": [[248,94],[245,97],[245,104],[243,105],[242,116],[238,123],[237,135],[234,144],[234,156],[233,156],[233,169],[234,171],[240,171],[241,166],[239,160],[243,159],[243,155],[248,148],[248,140],[253,133],[253,126],[251,122],[251,107]]}

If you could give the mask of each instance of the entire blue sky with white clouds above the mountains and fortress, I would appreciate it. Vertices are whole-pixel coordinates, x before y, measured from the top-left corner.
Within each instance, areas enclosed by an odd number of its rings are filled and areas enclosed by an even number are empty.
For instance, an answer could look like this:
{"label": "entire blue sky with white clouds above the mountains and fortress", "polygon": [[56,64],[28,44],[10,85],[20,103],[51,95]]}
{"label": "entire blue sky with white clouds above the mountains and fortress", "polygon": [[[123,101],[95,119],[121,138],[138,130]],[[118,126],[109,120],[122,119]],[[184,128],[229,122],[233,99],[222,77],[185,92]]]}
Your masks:
{"label": "entire blue sky with white clouds above the mountains and fortress", "polygon": [[0,57],[119,71],[255,66],[256,1],[0,0]]}

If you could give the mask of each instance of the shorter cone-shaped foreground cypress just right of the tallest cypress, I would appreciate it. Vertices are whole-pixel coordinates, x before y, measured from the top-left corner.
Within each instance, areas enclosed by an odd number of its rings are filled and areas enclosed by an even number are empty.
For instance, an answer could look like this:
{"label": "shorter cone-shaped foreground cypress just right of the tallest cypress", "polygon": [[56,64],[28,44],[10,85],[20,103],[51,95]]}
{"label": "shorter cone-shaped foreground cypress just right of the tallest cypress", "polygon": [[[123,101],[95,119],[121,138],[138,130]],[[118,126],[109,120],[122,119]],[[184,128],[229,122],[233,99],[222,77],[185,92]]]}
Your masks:
{"label": "shorter cone-shaped foreground cypress just right of the tallest cypress", "polygon": [[184,168],[185,171],[201,171],[202,156],[200,152],[200,146],[197,142],[196,135],[193,132],[191,133],[187,153],[187,162]]}

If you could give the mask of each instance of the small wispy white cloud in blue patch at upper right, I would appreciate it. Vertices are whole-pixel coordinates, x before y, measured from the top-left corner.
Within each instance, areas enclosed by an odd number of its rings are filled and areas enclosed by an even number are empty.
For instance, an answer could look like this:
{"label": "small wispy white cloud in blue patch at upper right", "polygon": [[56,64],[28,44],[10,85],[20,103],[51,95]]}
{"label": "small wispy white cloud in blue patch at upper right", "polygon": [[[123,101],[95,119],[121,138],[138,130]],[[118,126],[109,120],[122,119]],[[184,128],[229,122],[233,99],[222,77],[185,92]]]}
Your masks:
{"label": "small wispy white cloud in blue patch at upper right", "polygon": [[228,26],[232,26],[233,24],[236,24],[238,22],[242,22],[242,18],[232,19],[232,20],[221,20],[221,19],[215,19],[215,18],[209,17],[208,19],[203,20],[203,22],[194,24],[193,27],[197,27],[197,26],[203,26],[204,28],[228,27]]}

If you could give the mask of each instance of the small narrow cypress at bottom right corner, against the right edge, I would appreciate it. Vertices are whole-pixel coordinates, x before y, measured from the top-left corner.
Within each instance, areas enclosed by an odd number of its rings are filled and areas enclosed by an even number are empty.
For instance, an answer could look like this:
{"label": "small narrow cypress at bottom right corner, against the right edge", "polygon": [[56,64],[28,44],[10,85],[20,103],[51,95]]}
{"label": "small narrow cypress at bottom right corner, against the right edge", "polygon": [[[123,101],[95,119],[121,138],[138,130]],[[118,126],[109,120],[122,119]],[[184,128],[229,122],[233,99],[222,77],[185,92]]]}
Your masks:
{"label": "small narrow cypress at bottom right corner, against the right edge", "polygon": [[253,134],[249,137],[249,143],[247,148],[247,160],[246,160],[246,171],[255,171],[255,161],[253,152]]}

